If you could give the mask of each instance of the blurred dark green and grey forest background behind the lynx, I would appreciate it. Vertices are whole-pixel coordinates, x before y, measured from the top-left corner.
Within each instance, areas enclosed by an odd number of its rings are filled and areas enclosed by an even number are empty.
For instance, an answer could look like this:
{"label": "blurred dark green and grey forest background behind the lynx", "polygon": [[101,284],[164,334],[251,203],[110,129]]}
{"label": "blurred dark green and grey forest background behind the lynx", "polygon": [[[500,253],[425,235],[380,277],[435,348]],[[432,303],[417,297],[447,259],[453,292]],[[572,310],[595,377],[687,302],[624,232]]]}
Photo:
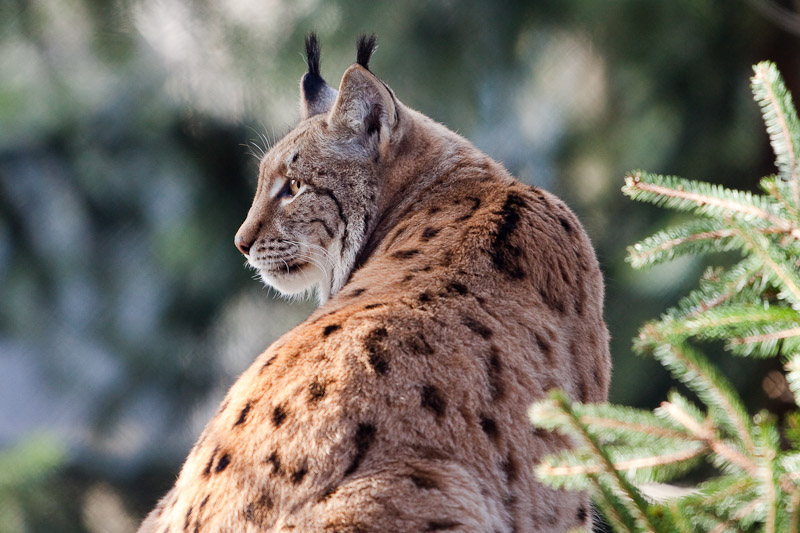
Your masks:
{"label": "blurred dark green and grey forest background behind the lynx", "polygon": [[[800,95],[798,7],[0,0],[0,532],[133,531],[235,376],[312,309],[232,242],[250,152],[298,119],[311,29],[332,84],[375,31],[403,102],[575,209],[606,275],[611,399],[654,407],[670,380],[630,339],[705,265],[627,266],[674,215],[624,199],[622,176],[771,173],[748,79],[771,59]],[[774,363],[745,363],[724,371],[769,404]]]}

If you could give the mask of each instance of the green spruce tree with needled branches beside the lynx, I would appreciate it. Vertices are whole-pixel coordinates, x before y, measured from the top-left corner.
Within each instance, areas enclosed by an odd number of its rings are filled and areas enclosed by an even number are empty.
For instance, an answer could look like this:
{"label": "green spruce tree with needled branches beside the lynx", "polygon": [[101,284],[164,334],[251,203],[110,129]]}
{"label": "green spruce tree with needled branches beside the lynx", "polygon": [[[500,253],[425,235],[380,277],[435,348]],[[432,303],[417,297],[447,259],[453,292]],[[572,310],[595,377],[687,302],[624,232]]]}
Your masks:
{"label": "green spruce tree with needled branches beside the lynx", "polygon": [[[646,268],[682,255],[738,251],[741,260],[711,268],[699,287],[659,320],[634,348],[653,355],[697,395],[698,408],[672,392],[654,412],[581,405],[560,391],[531,408],[537,426],[571,435],[573,450],[538,466],[554,487],[589,490],[619,531],[798,531],[800,411],[751,416],[737,391],[697,348],[723,341],[743,357],[780,357],[784,385],[800,405],[800,122],[774,64],[754,67],[752,89],[776,156],[764,194],[635,171],[623,192],[634,200],[686,211],[690,221],[630,247]],[[712,474],[688,489],[674,480],[703,460]],[[653,490],[654,487],[657,490]]]}

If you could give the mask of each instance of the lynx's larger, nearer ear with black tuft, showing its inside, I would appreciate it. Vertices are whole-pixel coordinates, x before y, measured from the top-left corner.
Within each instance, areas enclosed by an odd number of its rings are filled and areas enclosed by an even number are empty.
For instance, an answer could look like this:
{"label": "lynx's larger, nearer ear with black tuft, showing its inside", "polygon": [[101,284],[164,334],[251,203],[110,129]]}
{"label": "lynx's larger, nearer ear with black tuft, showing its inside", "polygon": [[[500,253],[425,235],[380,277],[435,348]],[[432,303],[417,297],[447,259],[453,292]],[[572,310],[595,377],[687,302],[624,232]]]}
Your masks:
{"label": "lynx's larger, nearer ear with black tuft, showing its inside", "polygon": [[359,38],[357,62],[342,76],[328,121],[351,131],[365,146],[377,142],[382,152],[397,121],[397,108],[391,90],[369,71],[375,47],[374,34]]}

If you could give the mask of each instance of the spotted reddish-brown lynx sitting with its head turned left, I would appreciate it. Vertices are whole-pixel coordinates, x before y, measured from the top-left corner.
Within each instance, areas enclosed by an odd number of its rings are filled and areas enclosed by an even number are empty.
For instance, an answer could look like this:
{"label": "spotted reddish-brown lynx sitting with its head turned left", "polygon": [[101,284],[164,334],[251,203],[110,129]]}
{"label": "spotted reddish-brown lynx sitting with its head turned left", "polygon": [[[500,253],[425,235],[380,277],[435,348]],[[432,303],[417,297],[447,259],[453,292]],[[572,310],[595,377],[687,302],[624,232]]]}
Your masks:
{"label": "spotted reddish-brown lynx sitting with its head turned left", "polygon": [[320,307],[228,392],[140,531],[589,528],[533,468],[571,443],[528,406],[603,401],[603,283],[552,194],[516,181],[369,69],[338,90],[306,39],[299,125],[260,163],[235,245]]}

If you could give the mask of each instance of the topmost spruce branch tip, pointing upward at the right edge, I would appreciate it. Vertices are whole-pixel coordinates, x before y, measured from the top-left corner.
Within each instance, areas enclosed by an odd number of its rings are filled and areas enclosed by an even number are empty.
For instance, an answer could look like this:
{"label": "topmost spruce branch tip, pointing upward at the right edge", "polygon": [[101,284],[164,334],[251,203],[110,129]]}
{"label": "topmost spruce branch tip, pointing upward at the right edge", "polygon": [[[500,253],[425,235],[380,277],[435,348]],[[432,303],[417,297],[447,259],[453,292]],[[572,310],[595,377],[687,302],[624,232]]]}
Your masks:
{"label": "topmost spruce branch tip, pointing upward at the right edge", "polygon": [[769,133],[770,144],[775,152],[775,165],[792,190],[795,207],[800,205],[800,185],[798,185],[797,157],[800,153],[800,123],[792,102],[792,95],[786,90],[774,63],[764,61],[753,67],[755,75],[751,79],[753,95],[761,107],[764,123]]}

